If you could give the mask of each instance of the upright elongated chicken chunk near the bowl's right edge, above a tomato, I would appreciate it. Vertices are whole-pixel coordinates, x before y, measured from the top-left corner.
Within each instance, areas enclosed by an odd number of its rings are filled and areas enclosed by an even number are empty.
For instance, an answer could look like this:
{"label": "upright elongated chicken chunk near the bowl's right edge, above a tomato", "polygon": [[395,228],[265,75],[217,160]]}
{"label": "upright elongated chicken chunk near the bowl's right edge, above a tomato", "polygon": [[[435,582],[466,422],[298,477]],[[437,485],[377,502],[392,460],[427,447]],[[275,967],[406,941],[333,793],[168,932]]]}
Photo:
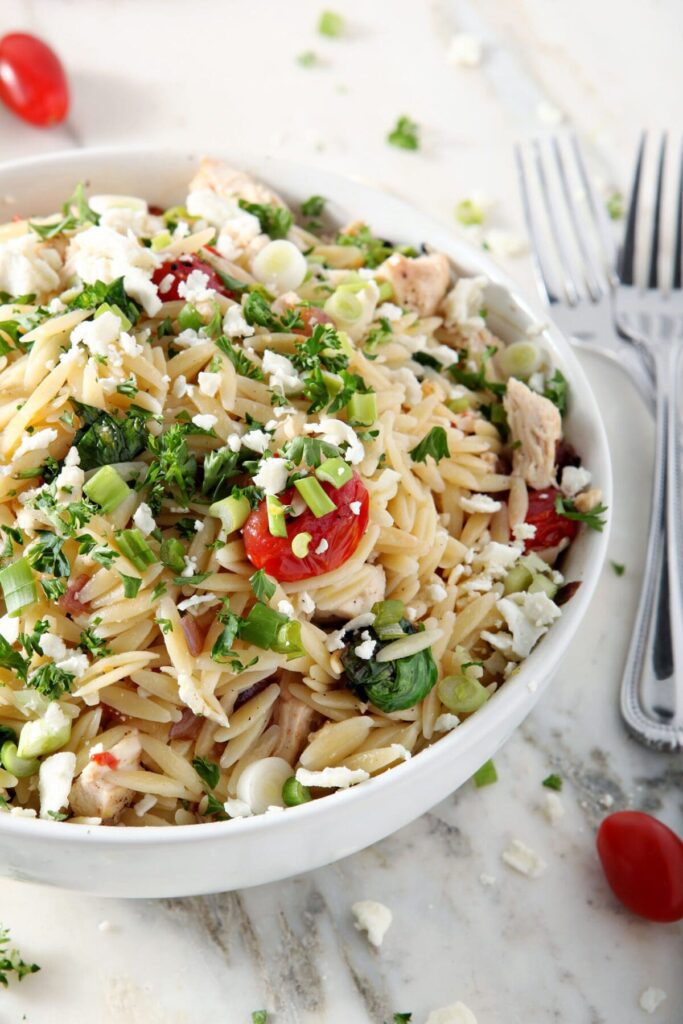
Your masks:
{"label": "upright elongated chicken chunk near the bowl's right edge, above a tomato", "polygon": [[508,381],[503,404],[512,440],[520,442],[512,457],[514,471],[529,487],[549,487],[555,478],[555,453],[562,436],[557,407],[514,377]]}

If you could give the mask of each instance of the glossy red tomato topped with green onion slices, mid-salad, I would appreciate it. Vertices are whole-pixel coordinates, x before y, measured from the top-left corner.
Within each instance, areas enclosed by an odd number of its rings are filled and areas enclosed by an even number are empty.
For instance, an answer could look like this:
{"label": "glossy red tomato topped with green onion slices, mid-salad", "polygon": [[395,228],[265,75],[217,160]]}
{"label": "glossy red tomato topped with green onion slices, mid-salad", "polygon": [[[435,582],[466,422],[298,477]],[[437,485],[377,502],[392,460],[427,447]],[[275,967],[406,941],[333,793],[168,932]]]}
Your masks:
{"label": "glossy red tomato topped with green onion slices, mid-salad", "polygon": [[[247,557],[257,569],[284,583],[309,580],[338,568],[353,554],[368,526],[370,499],[366,485],[357,473],[339,489],[324,483],[323,489],[337,506],[334,512],[316,519],[310,509],[301,515],[289,517],[287,537],[273,537],[268,530],[265,501],[250,514],[244,527]],[[283,505],[289,505],[297,494],[294,487],[279,495]],[[358,502],[357,515],[350,506]],[[310,534],[311,541],[305,558],[297,558],[292,551],[292,541],[298,534]],[[319,551],[321,542],[325,549]]]}

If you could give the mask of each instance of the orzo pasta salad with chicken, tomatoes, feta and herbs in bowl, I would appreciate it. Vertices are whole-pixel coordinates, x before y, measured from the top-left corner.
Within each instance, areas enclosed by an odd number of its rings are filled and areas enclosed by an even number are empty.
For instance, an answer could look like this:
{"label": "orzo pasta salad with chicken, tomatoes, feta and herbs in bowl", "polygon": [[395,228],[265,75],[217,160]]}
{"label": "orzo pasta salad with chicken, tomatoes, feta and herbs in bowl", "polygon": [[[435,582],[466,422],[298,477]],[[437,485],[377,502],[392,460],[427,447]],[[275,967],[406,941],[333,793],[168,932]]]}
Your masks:
{"label": "orzo pasta salad with chicken, tomatoes, feta and herbs in bowl", "polygon": [[[154,201],[154,197],[148,197]],[[0,228],[0,808],[227,820],[355,785],[561,614],[566,381],[445,256],[206,160]]]}

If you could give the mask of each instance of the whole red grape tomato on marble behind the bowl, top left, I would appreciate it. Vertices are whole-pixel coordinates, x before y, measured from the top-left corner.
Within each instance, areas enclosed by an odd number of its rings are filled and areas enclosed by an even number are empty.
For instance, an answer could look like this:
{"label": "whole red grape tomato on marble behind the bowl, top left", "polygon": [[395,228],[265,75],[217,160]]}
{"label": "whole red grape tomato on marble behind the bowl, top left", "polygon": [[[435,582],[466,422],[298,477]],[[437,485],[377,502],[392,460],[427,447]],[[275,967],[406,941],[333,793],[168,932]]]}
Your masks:
{"label": "whole red grape tomato on marble behind the bowl, top left", "polygon": [[26,32],[0,39],[0,99],[17,117],[45,128],[69,113],[69,83],[59,57]]}

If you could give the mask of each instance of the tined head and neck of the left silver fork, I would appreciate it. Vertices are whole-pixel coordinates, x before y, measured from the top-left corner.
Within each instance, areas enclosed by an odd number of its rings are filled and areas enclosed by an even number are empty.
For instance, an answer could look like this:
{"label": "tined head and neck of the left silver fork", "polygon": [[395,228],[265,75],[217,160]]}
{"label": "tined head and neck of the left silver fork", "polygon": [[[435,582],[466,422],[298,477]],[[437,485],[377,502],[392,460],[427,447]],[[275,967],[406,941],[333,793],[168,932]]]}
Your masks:
{"label": "tined head and neck of the left silver fork", "polygon": [[[544,156],[538,140],[532,142],[530,173],[521,147],[515,147],[537,286],[542,299],[550,306],[553,319],[570,340],[615,362],[631,377],[644,401],[653,410],[653,368],[649,354],[614,322],[612,291],[616,284],[616,246],[606,213],[595,195],[575,136],[568,137],[568,144],[570,161],[563,155],[556,137],[549,140],[551,160]],[[588,226],[569,183],[569,169],[574,171],[586,199]],[[535,190],[530,184],[535,179],[540,196],[538,204],[531,201]],[[553,180],[559,186],[554,197],[551,195]],[[562,203],[566,214],[564,220],[559,216],[554,198]],[[543,229],[544,224],[547,232]]]}

